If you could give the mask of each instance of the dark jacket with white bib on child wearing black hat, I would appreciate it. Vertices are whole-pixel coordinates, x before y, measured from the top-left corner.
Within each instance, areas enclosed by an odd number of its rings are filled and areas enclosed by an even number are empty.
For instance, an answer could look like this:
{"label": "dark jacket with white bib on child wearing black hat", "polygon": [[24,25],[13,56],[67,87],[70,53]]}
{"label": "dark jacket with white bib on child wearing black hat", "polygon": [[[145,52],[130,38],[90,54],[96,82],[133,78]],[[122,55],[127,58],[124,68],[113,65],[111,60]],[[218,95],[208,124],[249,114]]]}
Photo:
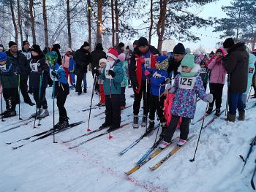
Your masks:
{"label": "dark jacket with white bib on child wearing black hat", "polygon": [[[33,69],[33,66],[32,66],[33,63],[38,63],[37,71],[35,71]],[[32,56],[31,61],[30,61],[30,66],[31,66],[31,72],[29,74],[29,80],[31,80],[32,88],[39,89],[40,77],[42,78],[42,88],[47,88],[49,67],[45,63],[45,54],[42,53],[41,55],[39,55],[37,57]]]}

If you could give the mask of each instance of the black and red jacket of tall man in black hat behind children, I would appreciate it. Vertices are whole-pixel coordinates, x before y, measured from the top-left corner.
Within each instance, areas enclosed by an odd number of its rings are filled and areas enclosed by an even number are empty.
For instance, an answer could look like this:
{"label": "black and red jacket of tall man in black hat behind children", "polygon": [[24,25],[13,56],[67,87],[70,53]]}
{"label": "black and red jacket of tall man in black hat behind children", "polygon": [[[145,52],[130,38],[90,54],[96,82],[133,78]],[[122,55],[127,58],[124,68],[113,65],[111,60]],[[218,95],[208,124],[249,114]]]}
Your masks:
{"label": "black and red jacket of tall man in black hat behind children", "polygon": [[[156,57],[154,55],[160,55],[159,51],[149,45],[149,51],[150,51],[150,55],[151,55],[151,69],[155,69],[155,64],[156,64]],[[130,60],[130,64],[129,64],[129,78],[132,82],[132,86],[138,87],[138,90],[136,91],[137,93],[140,92],[140,85],[142,82],[142,66],[140,64],[140,58],[141,58],[142,53],[140,53],[140,50],[135,49],[134,52],[132,53],[132,57]]]}

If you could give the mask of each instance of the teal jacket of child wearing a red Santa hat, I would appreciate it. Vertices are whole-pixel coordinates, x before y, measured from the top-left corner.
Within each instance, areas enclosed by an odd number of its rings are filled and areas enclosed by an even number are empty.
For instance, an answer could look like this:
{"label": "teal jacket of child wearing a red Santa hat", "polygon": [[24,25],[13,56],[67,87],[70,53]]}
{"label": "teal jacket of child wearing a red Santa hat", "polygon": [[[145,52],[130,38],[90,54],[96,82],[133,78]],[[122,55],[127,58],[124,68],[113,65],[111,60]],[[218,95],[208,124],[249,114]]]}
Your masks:
{"label": "teal jacket of child wearing a red Santa hat", "polygon": [[105,95],[110,95],[110,81],[111,81],[111,94],[118,95],[121,94],[121,82],[124,78],[124,71],[122,68],[121,61],[116,61],[117,63],[114,64],[113,72],[116,73],[115,77],[113,79],[108,79],[105,76],[105,69],[106,66],[103,69],[102,74],[99,75],[99,79],[104,80],[103,87],[104,87],[104,93]]}

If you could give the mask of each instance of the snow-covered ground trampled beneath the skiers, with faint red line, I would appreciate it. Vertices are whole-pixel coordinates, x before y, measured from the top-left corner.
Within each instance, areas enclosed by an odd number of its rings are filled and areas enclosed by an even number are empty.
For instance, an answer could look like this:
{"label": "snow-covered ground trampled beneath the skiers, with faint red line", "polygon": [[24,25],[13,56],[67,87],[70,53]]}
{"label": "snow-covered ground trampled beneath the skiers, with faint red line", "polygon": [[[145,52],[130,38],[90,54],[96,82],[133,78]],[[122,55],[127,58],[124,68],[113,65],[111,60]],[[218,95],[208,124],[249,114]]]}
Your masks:
{"label": "snow-covered ground trampled beneath the skiers, with faint red line", "polygon": [[[134,129],[130,123],[115,131],[112,134],[113,139],[108,139],[108,135],[105,135],[72,150],[68,147],[96,134],[73,142],[62,143],[86,133],[89,111],[81,112],[81,110],[88,108],[90,104],[91,74],[87,76],[87,79],[89,81],[88,93],[77,96],[75,91],[71,91],[66,103],[69,123],[78,120],[85,120],[85,123],[56,134],[58,143],[53,144],[53,137],[47,137],[37,142],[30,142],[17,150],[12,150],[12,147],[29,142],[29,140],[12,145],[6,144],[6,142],[52,128],[51,88],[47,89],[50,116],[41,121],[41,126],[33,128],[34,121],[31,121],[26,126],[0,134],[0,191],[253,191],[250,179],[255,167],[255,149],[242,173],[243,162],[239,155],[246,156],[249,143],[255,137],[256,107],[246,111],[244,122],[236,120],[236,123],[226,125],[225,120],[217,119],[211,126],[204,129],[195,162],[192,163],[189,159],[194,155],[201,123],[190,127],[189,134],[195,134],[196,137],[159,169],[151,171],[148,167],[156,164],[174,146],[127,177],[124,172],[132,169],[135,162],[154,144],[157,131],[150,137],[144,138],[122,156],[118,155],[118,152],[138,139],[145,128]],[[132,89],[127,88],[127,105],[132,104],[131,94]],[[226,88],[223,95],[223,109],[225,98]],[[98,96],[94,96],[93,104],[97,104],[98,101]],[[255,99],[250,99],[248,105],[253,103]],[[59,118],[57,107],[55,110],[57,122]],[[206,103],[198,101],[195,120],[203,115],[204,110],[206,110]],[[35,107],[22,102],[20,111],[21,118],[25,119],[35,111]],[[103,111],[103,107],[91,110],[90,128],[92,131],[104,122],[104,115],[94,118],[94,115]],[[222,117],[224,116],[222,114]],[[205,123],[210,119],[211,116],[206,118]],[[132,107],[124,110],[122,120],[124,122],[121,124],[132,122]],[[1,122],[0,131],[18,125],[18,122],[18,116]],[[175,137],[178,134],[179,132],[176,131]]]}

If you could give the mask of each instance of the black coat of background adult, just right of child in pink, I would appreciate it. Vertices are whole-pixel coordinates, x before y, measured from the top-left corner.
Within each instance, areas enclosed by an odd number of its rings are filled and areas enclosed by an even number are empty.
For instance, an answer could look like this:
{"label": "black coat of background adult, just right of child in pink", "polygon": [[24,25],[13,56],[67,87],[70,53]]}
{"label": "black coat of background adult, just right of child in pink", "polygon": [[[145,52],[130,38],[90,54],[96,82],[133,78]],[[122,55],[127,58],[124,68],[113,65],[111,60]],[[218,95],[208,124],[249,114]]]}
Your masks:
{"label": "black coat of background adult, just right of child in pink", "polygon": [[74,59],[76,62],[76,72],[86,73],[87,67],[91,61],[91,53],[89,50],[83,49],[83,46],[79,50],[75,51]]}

